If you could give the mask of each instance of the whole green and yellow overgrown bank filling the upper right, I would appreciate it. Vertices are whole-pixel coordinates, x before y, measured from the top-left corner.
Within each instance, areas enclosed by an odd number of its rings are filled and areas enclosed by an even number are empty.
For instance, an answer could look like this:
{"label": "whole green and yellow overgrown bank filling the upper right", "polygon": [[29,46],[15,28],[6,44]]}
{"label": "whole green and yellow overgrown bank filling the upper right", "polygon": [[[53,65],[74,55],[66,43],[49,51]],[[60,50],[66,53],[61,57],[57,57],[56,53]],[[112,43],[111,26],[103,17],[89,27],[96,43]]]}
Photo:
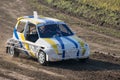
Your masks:
{"label": "whole green and yellow overgrown bank filling the upper right", "polygon": [[39,0],[69,15],[94,24],[120,29],[120,0]]}

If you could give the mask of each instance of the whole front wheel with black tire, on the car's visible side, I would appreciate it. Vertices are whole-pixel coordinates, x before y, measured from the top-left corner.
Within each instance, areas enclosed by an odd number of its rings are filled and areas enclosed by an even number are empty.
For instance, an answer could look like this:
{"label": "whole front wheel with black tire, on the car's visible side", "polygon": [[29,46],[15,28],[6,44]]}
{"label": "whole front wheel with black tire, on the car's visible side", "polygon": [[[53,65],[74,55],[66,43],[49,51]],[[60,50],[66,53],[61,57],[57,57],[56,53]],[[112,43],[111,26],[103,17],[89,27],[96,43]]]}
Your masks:
{"label": "whole front wheel with black tire, on the car's visible side", "polygon": [[43,51],[39,52],[38,54],[38,62],[41,65],[44,65],[44,66],[47,65],[46,54]]}

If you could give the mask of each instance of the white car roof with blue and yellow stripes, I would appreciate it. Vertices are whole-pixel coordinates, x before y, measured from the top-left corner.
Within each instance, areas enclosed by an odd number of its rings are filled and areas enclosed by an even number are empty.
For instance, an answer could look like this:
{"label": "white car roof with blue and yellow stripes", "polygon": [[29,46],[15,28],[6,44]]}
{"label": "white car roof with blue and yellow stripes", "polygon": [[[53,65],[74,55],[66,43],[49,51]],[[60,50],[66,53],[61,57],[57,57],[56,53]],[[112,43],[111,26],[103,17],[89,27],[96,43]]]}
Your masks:
{"label": "white car roof with blue and yellow stripes", "polygon": [[64,23],[63,21],[55,18],[50,18],[50,17],[39,17],[39,18],[34,18],[34,16],[23,16],[19,17],[18,21],[28,21],[30,23],[33,23],[35,25],[38,24],[57,24],[57,23]]}

